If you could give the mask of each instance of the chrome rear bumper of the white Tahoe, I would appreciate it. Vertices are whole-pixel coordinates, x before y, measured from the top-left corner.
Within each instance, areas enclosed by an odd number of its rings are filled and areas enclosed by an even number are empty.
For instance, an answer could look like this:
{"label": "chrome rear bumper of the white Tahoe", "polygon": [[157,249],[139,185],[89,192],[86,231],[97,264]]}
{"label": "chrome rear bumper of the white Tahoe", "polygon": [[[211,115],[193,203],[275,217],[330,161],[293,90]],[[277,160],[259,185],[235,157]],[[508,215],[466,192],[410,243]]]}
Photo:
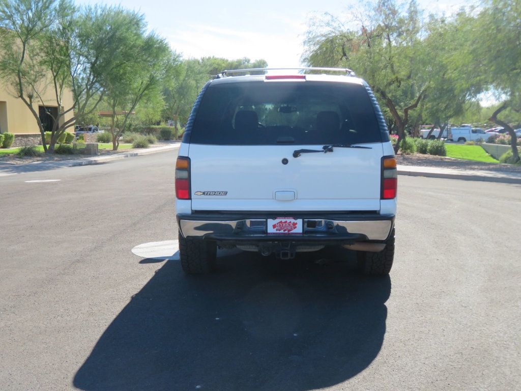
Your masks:
{"label": "chrome rear bumper of the white Tahoe", "polygon": [[[374,218],[374,217],[373,217]],[[387,219],[368,219],[339,221],[325,218],[303,219],[303,234],[284,236],[286,239],[307,238],[312,240],[316,235],[317,238],[335,239],[340,237],[365,237],[365,240],[386,240],[394,223],[394,216]],[[179,229],[183,237],[204,237],[222,238],[231,240],[237,236],[237,239],[251,238],[252,240],[274,238],[266,233],[266,219],[239,219],[230,221],[203,221],[203,220],[187,220],[182,217],[178,218]],[[358,239],[359,240],[359,239]]]}

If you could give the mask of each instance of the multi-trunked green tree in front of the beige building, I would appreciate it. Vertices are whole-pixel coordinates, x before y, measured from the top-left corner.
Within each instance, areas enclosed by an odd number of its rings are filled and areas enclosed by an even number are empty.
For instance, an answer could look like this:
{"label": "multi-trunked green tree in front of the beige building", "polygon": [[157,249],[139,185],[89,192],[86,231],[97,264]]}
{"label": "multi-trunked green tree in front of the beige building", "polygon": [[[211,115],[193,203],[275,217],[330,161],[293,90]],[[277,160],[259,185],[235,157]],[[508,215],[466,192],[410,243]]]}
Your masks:
{"label": "multi-trunked green tree in front of the beige building", "polygon": [[[45,152],[60,136],[90,116],[105,96],[108,75],[128,62],[129,18],[119,7],[85,7],[69,0],[0,0],[0,72],[40,128]],[[33,108],[52,89],[58,113],[47,147],[39,113]],[[64,105],[70,89],[73,103]],[[70,115],[72,113],[72,115]],[[70,115],[69,119],[65,119]]]}

